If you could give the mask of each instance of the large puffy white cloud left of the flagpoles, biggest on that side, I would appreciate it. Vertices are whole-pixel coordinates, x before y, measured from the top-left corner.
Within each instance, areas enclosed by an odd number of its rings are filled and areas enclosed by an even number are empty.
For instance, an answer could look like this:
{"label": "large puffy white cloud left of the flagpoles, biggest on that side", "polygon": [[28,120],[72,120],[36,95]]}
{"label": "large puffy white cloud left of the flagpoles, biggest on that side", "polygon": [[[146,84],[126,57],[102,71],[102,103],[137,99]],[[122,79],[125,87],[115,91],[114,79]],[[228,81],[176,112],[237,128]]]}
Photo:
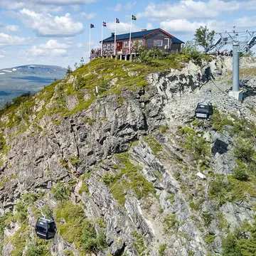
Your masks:
{"label": "large puffy white cloud left of the flagpoles, biggest on that side", "polygon": [[22,9],[19,13],[21,21],[33,28],[38,36],[75,36],[83,31],[82,23],[73,21],[70,14],[52,16],[28,9]]}

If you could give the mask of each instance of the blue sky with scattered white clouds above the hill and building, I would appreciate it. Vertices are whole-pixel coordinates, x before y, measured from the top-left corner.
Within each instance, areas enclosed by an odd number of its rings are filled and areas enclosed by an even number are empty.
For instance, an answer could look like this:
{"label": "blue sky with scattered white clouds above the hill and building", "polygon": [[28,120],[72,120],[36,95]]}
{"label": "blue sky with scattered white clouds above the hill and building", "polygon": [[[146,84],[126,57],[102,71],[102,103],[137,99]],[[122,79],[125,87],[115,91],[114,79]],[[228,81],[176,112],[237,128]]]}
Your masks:
{"label": "blue sky with scattered white clouds above the hill and building", "polygon": [[[130,16],[137,16],[132,31],[162,28],[182,41],[191,40],[196,28],[215,31],[256,31],[256,0],[1,0],[0,68],[45,64],[74,67],[88,60],[89,25],[91,46],[100,47],[114,32],[128,33]],[[255,48],[253,49],[255,50]]]}

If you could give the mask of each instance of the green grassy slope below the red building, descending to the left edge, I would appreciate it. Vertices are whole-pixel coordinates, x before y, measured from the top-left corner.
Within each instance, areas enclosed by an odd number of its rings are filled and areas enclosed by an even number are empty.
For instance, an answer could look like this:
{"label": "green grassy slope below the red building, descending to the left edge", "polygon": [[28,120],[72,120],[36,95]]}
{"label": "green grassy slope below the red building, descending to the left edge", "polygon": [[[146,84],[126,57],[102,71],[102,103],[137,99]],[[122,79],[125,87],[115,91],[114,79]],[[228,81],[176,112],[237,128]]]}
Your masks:
{"label": "green grassy slope below the red building, descending to the left edge", "polygon": [[[41,90],[41,92],[38,92],[36,99],[43,102],[43,107],[38,112],[33,110],[34,105],[36,105],[34,96],[18,97],[14,105],[1,110],[0,116],[8,115],[9,119],[7,124],[1,124],[1,127],[17,127],[18,133],[24,132],[31,125],[30,117],[32,114],[36,114],[36,120],[33,121],[35,123],[46,114],[52,116],[53,114],[60,113],[62,117],[75,114],[87,109],[97,100],[95,96],[96,86],[106,89],[100,89],[99,97],[104,97],[107,94],[120,95],[123,87],[133,91],[139,90],[139,88],[149,85],[144,79],[146,75],[152,72],[165,72],[169,68],[181,68],[178,56],[171,60],[152,60],[147,65],[110,58],[97,58],[70,73],[70,75],[75,77],[75,86],[68,83],[68,77],[55,81]],[[133,78],[129,77],[129,71],[137,71],[138,75]],[[113,78],[116,78],[117,82],[111,86],[110,81]],[[78,97],[79,103],[73,110],[67,109],[65,94]],[[85,95],[89,95],[88,100],[84,99]],[[55,96],[55,100],[49,107],[48,104],[53,96]],[[124,98],[119,97],[117,102],[122,105]],[[39,132],[41,132],[40,129]]]}

